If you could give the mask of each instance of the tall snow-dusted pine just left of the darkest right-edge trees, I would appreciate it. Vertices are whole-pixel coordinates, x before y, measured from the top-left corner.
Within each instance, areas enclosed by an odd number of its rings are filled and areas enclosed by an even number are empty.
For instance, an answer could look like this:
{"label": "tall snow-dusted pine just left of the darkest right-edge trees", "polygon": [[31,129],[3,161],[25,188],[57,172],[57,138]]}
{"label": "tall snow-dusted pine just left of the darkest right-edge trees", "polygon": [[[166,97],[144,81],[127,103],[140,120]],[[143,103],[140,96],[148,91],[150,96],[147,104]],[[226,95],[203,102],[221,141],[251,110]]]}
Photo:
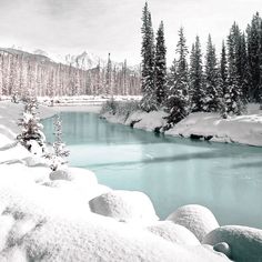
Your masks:
{"label": "tall snow-dusted pine just left of the darkest right-edge trees", "polygon": [[228,89],[224,95],[224,103],[228,113],[241,114],[245,111],[243,100],[242,84],[240,83],[240,74],[238,69],[238,47],[241,41],[239,27],[234,23],[228,37]]}

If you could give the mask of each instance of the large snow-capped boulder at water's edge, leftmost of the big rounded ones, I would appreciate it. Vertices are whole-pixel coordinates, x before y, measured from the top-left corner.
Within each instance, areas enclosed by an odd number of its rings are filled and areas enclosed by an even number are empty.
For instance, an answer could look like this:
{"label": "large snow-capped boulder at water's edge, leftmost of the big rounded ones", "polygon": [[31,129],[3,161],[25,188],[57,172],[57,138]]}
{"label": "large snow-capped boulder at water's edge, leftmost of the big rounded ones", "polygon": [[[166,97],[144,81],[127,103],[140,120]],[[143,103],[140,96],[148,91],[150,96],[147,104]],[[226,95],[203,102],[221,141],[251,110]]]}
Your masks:
{"label": "large snow-capped boulder at water's edge, leftmost of the big rounded ones", "polygon": [[92,212],[120,221],[155,221],[159,219],[149,196],[137,191],[111,191],[92,199],[89,205]]}

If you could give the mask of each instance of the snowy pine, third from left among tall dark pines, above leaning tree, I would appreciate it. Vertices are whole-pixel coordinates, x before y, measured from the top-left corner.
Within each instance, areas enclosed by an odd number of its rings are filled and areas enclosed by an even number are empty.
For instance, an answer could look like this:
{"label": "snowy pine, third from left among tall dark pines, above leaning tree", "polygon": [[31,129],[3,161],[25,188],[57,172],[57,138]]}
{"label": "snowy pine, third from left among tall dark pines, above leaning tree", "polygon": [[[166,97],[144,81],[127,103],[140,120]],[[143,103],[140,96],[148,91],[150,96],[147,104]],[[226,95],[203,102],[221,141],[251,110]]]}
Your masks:
{"label": "snowy pine, third from left among tall dark pines, above leaning tree", "polygon": [[179,30],[179,42],[177,44],[178,60],[175,62],[175,81],[169,85],[167,109],[169,112],[168,127],[181,121],[189,114],[189,73],[188,73],[188,47],[183,28]]}

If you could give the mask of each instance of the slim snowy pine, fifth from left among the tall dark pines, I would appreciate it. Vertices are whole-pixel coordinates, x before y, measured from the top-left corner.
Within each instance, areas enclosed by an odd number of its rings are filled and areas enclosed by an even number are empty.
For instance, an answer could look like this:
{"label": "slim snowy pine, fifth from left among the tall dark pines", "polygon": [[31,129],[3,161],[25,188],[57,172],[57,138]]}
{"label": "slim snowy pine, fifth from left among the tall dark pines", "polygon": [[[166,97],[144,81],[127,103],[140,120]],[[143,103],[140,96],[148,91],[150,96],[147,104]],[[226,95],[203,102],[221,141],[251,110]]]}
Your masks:
{"label": "slim snowy pine, fifth from left among the tall dark pines", "polygon": [[222,90],[219,81],[219,69],[218,59],[215,56],[215,47],[212,43],[210,34],[208,39],[205,56],[204,85],[204,111],[219,112],[222,99]]}

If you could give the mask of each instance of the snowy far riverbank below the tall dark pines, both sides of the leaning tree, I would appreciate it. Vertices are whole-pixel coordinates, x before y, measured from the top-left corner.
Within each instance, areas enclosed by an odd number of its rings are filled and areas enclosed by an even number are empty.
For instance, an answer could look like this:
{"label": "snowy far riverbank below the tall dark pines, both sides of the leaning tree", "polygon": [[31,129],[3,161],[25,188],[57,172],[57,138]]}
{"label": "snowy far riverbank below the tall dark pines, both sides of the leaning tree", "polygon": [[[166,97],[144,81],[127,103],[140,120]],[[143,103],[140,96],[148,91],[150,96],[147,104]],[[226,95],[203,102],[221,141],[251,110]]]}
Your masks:
{"label": "snowy far riverbank below the tall dark pines, both sides of the leaning tree", "polygon": [[[137,111],[128,118],[121,114],[103,114],[110,122],[132,124],[133,128],[148,131],[161,129],[165,124],[163,118],[167,115],[162,111]],[[259,104],[249,104],[246,114],[228,119],[222,119],[218,113],[191,113],[165,134],[262,147],[262,110]]]}

